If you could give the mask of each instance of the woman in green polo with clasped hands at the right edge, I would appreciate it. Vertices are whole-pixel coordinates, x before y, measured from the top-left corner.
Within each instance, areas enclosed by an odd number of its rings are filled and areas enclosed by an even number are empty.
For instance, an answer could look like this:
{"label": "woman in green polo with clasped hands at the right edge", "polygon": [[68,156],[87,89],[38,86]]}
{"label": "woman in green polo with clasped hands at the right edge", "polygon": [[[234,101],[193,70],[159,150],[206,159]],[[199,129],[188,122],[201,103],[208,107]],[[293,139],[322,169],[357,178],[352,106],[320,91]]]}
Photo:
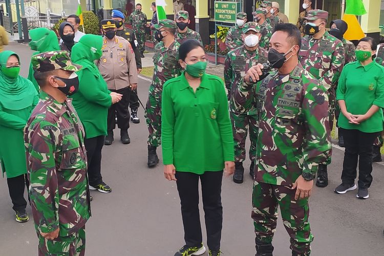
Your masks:
{"label": "woman in green polo with clasped hands at the right edge", "polygon": [[373,38],[360,39],[355,53],[357,61],[344,67],[336,93],[336,99],[343,113],[339,116],[338,125],[343,131],[345,155],[342,184],[334,191],[337,194],[345,194],[356,189],[358,159],[356,197],[359,199],[369,197],[368,188],[372,183],[372,144],[382,131],[384,68],[373,60],[376,47]]}

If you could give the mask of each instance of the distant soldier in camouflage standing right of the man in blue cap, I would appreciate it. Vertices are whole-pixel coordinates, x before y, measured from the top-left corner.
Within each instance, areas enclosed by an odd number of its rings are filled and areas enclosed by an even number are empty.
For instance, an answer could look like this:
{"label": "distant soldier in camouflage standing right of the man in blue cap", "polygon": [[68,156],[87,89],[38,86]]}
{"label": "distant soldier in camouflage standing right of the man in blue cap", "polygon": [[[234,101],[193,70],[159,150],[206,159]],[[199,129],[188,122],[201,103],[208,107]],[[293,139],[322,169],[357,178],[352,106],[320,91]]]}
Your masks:
{"label": "distant soldier in camouflage standing right of the man in blue cap", "polygon": [[140,49],[140,57],[144,58],[146,15],[141,11],[141,4],[136,5],[136,10],[130,15],[130,24],[134,30]]}

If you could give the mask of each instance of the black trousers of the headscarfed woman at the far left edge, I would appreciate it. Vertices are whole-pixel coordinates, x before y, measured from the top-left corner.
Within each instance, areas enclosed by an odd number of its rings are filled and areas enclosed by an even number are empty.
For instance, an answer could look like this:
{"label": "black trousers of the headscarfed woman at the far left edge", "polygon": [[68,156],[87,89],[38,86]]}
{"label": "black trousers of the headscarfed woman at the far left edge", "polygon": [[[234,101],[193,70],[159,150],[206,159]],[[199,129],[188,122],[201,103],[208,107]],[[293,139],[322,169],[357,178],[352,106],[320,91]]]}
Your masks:
{"label": "black trousers of the headscarfed woman at the far left edge", "polygon": [[[22,210],[27,207],[27,201],[24,199],[24,189],[29,187],[27,174],[13,178],[7,178],[9,196],[11,197],[13,210]],[[28,200],[29,196],[28,196]]]}

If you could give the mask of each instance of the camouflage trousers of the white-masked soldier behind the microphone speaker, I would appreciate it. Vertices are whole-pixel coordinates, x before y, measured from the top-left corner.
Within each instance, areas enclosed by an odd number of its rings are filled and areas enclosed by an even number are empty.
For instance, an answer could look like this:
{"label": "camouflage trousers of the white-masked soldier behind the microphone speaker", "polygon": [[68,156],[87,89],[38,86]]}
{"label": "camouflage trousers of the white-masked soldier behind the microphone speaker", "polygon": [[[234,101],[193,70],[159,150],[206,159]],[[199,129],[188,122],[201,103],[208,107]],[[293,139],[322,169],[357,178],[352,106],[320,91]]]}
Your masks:
{"label": "camouflage trousers of the white-masked soldier behind the microphone speaker", "polygon": [[234,161],[243,162],[245,160],[245,139],[247,138],[248,130],[249,140],[251,141],[249,159],[253,161],[256,158],[256,145],[259,133],[258,116],[234,113],[232,111],[229,114],[234,140]]}

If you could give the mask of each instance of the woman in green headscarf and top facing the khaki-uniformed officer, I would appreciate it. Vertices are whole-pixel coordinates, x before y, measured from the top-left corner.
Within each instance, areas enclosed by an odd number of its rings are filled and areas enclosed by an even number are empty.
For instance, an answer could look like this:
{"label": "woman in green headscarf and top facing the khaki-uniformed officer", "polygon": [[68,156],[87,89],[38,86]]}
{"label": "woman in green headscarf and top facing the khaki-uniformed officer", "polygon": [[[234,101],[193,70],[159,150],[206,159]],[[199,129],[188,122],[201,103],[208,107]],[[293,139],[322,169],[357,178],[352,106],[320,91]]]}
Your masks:
{"label": "woman in green headscarf and top facing the khaki-uniformed officer", "polygon": [[111,187],[101,176],[101,150],[106,135],[106,117],[111,104],[121,100],[121,94],[111,93],[94,61],[101,57],[103,38],[83,35],[72,47],[71,60],[82,69],[78,72],[79,91],[72,96],[72,104],[86,130],[88,178],[91,190],[110,193]]}

